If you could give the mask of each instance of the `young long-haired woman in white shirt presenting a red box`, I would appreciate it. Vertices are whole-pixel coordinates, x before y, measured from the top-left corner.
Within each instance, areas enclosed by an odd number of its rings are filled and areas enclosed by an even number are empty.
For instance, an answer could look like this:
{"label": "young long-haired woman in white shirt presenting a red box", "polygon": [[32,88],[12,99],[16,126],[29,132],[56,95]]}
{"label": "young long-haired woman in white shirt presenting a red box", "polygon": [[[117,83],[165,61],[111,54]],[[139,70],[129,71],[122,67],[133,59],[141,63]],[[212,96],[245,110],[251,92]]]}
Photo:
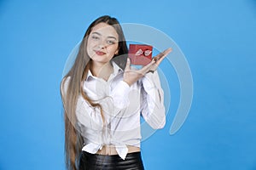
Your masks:
{"label": "young long-haired woman in white shirt presenting a red box", "polygon": [[119,21],[102,16],[90,24],[61,81],[67,169],[144,169],[140,116],[153,128],[165,125],[156,69],[171,51],[134,70]]}

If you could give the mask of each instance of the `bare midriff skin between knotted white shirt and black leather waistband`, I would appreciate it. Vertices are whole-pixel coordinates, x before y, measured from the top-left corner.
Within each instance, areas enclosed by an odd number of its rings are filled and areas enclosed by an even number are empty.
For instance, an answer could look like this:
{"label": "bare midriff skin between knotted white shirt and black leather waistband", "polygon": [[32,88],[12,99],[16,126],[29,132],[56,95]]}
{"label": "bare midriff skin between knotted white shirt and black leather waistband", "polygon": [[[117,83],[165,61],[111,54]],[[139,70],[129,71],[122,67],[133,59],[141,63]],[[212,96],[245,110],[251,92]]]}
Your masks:
{"label": "bare midriff skin between knotted white shirt and black leather waistband", "polygon": [[[126,147],[128,148],[128,153],[140,151],[140,148],[136,146],[126,145]],[[114,145],[103,145],[102,150],[98,150],[96,154],[107,156],[118,155]]]}

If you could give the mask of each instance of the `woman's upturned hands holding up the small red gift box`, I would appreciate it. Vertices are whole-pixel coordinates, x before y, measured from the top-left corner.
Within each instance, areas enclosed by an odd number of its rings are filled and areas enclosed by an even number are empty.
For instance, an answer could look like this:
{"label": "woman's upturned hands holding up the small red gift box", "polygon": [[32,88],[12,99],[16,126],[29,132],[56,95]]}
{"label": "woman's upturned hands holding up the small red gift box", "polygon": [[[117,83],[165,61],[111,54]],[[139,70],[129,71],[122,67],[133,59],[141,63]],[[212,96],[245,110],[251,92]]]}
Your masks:
{"label": "woman's upturned hands holding up the small red gift box", "polygon": [[167,48],[164,52],[156,55],[148,65],[143,66],[140,70],[131,70],[131,60],[128,58],[125,66],[124,82],[131,86],[134,82],[144,77],[146,73],[155,71],[160,62],[171,52],[172,48]]}

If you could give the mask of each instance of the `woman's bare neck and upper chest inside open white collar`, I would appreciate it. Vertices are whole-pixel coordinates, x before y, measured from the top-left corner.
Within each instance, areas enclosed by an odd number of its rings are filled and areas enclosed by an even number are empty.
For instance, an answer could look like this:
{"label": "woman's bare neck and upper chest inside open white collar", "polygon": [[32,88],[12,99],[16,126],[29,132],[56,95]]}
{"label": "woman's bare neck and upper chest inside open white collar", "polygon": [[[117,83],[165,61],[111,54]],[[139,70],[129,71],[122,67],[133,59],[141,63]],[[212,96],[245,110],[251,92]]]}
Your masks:
{"label": "woman's bare neck and upper chest inside open white collar", "polygon": [[102,64],[92,61],[90,64],[90,71],[93,76],[108,81],[108,77],[113,73],[113,65],[111,65],[110,62]]}

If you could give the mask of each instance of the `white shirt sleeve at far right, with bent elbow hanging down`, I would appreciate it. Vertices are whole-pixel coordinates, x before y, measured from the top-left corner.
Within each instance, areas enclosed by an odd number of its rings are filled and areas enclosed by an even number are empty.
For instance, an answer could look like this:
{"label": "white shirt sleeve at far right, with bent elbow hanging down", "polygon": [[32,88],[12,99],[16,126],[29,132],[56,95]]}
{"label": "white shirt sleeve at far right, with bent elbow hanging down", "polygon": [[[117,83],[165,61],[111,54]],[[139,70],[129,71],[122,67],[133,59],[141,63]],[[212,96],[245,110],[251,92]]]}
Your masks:
{"label": "white shirt sleeve at far right, with bent elbow hanging down", "polygon": [[164,93],[157,71],[147,73],[142,83],[141,112],[143,118],[154,129],[162,128],[166,124],[166,110]]}

